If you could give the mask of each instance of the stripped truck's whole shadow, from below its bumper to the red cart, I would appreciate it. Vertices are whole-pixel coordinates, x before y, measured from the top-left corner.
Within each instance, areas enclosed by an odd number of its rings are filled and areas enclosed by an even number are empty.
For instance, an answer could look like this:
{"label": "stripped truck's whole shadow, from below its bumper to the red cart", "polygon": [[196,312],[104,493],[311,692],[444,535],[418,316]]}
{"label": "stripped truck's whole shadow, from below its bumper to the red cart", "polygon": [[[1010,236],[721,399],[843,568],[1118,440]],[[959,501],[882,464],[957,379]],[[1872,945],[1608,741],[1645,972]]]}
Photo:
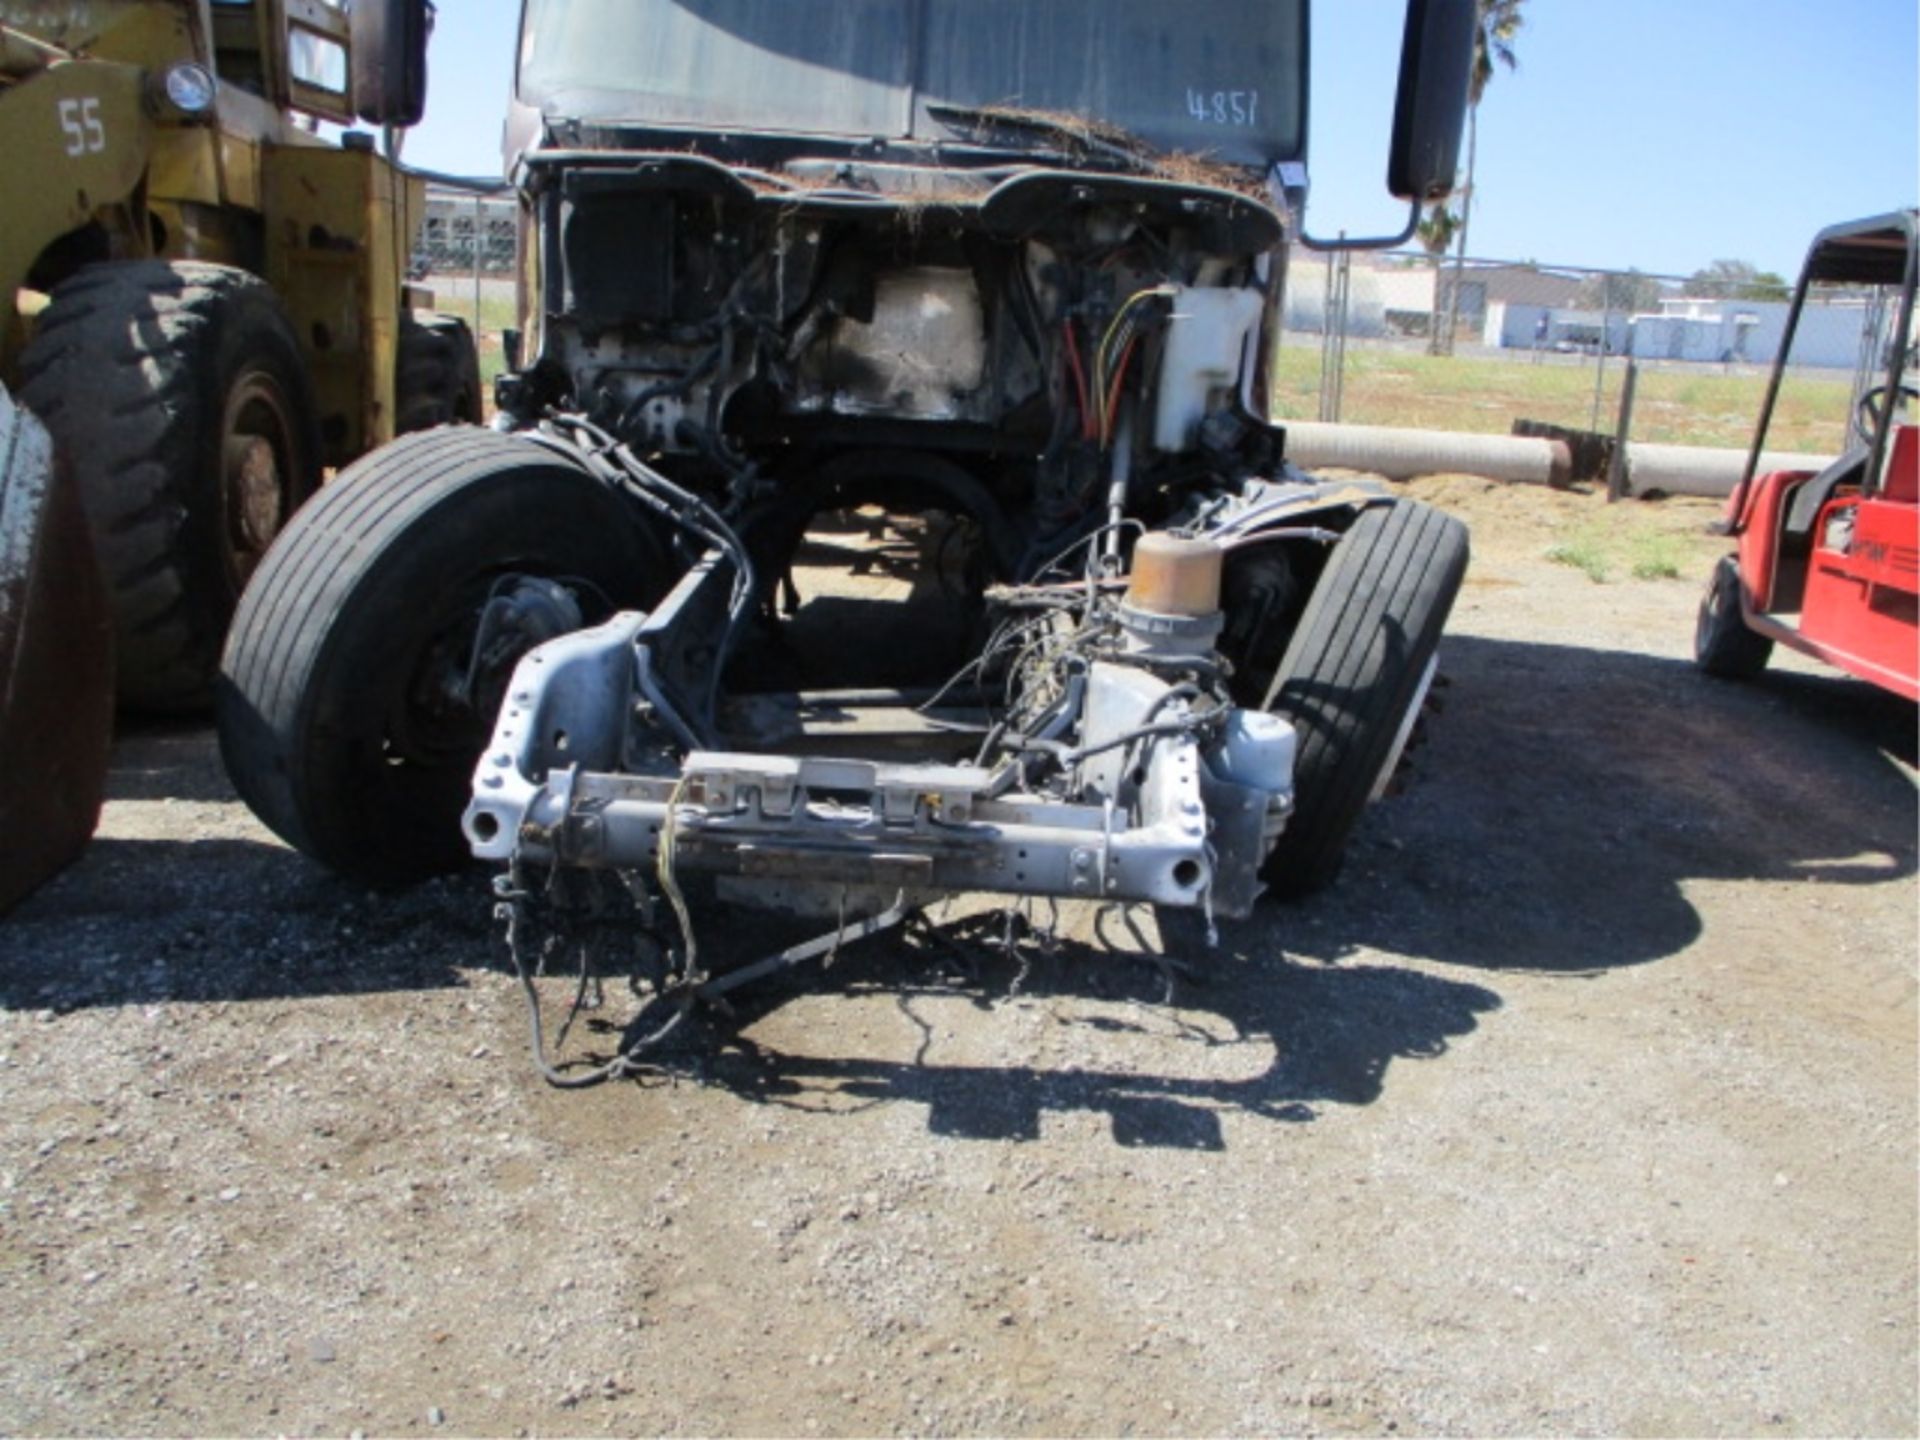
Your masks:
{"label": "stripped truck's whole shadow, from below its bumper to the red cart", "polygon": [[[1031,1139],[1048,1110],[1094,1110],[1121,1144],[1210,1148],[1223,1112],[1311,1119],[1321,1104],[1369,1104],[1394,1060],[1440,1056],[1500,1008],[1482,985],[1396,960],[1597,975],[1699,939],[1690,881],[1914,874],[1912,705],[1826,676],[1730,685],[1680,660],[1475,637],[1448,643],[1446,668],[1413,781],[1369,816],[1340,883],[1223,927],[1213,956],[1192,925],[1162,947],[1206,981],[1183,983],[1183,1010],[1217,1016],[1223,1031],[1150,1006],[1140,1023],[1202,1046],[1269,1048],[1260,1075],[824,1058],[758,1033],[799,977],[710,1027],[701,1073],[766,1104],[924,1104],[935,1133]],[[985,1004],[995,989],[929,983],[924,964],[877,943],[814,989],[891,991],[902,1006],[927,989]],[[1029,993],[1156,998],[1144,962],[1100,945],[1064,945],[1037,973]]]}

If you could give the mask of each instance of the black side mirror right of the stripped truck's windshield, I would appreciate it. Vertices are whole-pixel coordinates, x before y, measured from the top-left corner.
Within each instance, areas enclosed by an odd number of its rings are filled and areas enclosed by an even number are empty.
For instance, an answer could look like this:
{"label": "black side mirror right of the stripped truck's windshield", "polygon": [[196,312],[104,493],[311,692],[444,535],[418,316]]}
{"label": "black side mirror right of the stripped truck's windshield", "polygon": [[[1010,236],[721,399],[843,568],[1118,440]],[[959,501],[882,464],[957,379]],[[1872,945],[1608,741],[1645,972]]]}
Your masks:
{"label": "black side mirror right of the stripped truck's windshield", "polygon": [[1386,190],[1400,200],[1421,205],[1453,190],[1478,25],[1476,0],[1407,0],[1386,159]]}

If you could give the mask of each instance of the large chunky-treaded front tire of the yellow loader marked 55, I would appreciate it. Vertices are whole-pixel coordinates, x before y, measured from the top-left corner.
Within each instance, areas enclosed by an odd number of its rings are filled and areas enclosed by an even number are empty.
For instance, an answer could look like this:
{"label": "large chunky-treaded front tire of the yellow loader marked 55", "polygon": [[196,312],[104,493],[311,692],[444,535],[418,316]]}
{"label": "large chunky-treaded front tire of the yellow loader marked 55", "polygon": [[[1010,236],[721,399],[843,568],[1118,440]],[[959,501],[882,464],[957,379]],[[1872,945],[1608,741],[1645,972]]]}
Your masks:
{"label": "large chunky-treaded front tire of the yellow loader marked 55", "polygon": [[92,265],[56,286],[19,372],[81,488],[119,703],[204,710],[240,589],[321,478],[286,311],[225,265]]}

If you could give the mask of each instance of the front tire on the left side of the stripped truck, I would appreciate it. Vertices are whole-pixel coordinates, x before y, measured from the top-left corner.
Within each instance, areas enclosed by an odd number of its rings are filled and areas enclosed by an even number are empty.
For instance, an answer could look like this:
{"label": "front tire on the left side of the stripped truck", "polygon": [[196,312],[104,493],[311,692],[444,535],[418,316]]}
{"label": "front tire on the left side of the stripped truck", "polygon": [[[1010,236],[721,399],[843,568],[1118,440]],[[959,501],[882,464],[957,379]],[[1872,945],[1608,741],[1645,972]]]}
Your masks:
{"label": "front tire on the left side of the stripped truck", "polygon": [[[630,501],[526,440],[426,430],[342,470],[267,555],[227,639],[215,714],[240,799],[359,879],[463,866],[497,710],[497,691],[463,691],[480,611],[513,576],[559,580],[588,624],[672,578]],[[518,653],[495,657],[493,684]]]}

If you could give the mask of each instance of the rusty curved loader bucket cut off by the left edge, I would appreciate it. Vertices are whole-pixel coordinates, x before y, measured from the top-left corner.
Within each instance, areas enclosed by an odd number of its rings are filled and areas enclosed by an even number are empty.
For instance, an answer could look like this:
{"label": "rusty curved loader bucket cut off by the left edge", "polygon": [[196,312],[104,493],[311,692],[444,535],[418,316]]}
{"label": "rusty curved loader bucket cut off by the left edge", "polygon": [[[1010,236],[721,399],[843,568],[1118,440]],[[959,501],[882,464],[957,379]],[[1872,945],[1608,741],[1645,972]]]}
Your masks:
{"label": "rusty curved loader bucket cut off by the left edge", "polygon": [[0,912],[100,820],[113,626],[81,497],[0,386]]}

